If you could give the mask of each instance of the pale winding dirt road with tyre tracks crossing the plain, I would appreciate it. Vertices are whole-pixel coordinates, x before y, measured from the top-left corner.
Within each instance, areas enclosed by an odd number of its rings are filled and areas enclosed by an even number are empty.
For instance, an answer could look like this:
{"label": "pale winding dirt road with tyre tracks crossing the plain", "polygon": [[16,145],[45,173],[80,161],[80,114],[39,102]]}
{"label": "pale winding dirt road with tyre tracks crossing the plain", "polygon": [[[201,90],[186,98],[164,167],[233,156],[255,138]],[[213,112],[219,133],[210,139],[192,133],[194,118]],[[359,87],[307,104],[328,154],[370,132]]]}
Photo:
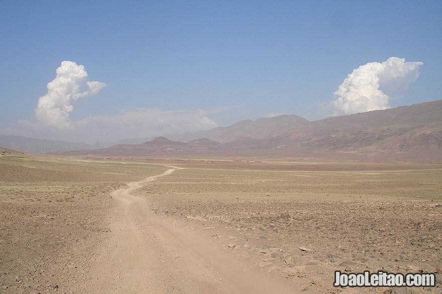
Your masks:
{"label": "pale winding dirt road with tyre tracks crossing the plain", "polygon": [[293,293],[293,281],[266,273],[222,245],[156,216],[137,190],[170,169],[112,193],[110,237],[95,257],[87,291],[133,293]]}

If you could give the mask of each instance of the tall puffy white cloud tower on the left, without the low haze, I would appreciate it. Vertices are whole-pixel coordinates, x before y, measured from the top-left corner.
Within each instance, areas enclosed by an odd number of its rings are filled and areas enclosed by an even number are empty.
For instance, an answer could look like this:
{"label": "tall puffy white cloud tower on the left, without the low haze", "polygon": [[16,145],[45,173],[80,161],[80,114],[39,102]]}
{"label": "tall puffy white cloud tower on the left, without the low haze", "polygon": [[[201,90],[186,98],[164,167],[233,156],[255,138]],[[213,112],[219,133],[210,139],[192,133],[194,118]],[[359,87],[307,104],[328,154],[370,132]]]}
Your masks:
{"label": "tall puffy white cloud tower on the left, without the low haze", "polygon": [[60,129],[72,128],[69,119],[69,112],[74,108],[72,103],[79,98],[96,95],[106,84],[87,81],[84,66],[72,61],[63,61],[56,74],[47,86],[48,93],[38,100],[35,115],[44,125]]}

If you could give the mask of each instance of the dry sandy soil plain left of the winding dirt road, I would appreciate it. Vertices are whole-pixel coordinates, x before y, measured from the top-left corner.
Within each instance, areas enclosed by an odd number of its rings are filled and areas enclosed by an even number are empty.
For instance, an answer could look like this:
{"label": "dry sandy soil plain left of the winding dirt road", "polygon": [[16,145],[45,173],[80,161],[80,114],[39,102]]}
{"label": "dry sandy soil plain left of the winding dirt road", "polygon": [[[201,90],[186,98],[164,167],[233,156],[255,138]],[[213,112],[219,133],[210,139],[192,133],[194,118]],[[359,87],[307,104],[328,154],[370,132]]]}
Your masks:
{"label": "dry sandy soil plain left of the winding dirt road", "polygon": [[0,157],[0,292],[77,292],[110,232],[109,193],[164,169]]}

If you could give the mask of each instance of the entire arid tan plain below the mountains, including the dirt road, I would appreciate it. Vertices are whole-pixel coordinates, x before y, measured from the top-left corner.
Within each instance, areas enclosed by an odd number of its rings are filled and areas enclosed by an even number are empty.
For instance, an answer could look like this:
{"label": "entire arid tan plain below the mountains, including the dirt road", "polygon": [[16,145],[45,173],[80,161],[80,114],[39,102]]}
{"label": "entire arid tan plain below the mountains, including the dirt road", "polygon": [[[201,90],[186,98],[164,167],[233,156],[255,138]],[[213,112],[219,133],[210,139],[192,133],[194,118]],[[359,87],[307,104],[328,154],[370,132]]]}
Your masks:
{"label": "entire arid tan plain below the mountains, including the dirt road", "polygon": [[6,293],[390,292],[333,287],[380,269],[440,292],[441,232],[442,164],[0,157]]}

